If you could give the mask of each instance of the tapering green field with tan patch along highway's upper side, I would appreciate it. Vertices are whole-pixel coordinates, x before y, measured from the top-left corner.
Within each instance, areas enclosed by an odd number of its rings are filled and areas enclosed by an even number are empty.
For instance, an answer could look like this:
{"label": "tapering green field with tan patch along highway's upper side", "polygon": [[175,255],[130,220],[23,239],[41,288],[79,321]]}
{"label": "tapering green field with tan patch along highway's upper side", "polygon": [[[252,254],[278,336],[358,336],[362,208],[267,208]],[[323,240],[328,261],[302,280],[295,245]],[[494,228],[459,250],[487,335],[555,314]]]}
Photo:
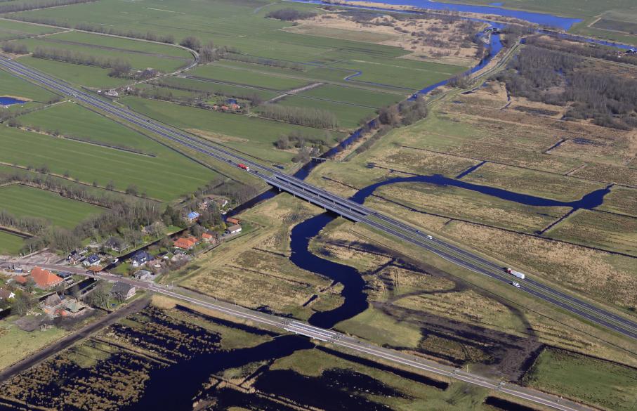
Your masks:
{"label": "tapering green field with tan patch along highway's upper side", "polygon": [[[291,131],[299,131],[306,136],[325,135],[325,131],[320,129],[156,100],[127,97],[122,99],[122,103],[154,119],[213,138],[219,143],[270,162],[290,161],[294,153],[275,150],[274,143]],[[331,133],[331,138],[342,136],[343,133]]]}

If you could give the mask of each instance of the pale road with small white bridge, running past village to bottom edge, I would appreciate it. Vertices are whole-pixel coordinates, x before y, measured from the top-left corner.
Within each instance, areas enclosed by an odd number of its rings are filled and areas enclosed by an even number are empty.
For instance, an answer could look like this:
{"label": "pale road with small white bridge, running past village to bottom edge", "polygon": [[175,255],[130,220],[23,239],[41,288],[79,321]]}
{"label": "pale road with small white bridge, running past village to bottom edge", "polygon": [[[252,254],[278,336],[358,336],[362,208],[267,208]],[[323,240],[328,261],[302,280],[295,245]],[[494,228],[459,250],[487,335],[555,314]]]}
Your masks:
{"label": "pale road with small white bridge, running past village to bottom edge", "polygon": [[150,292],[169,296],[173,299],[187,301],[190,304],[209,308],[210,310],[218,311],[226,315],[231,315],[234,318],[249,320],[260,325],[268,325],[279,330],[284,330],[286,332],[309,337],[310,339],[313,339],[315,341],[321,341],[326,344],[340,346],[342,348],[346,348],[348,351],[354,351],[355,353],[384,360],[388,363],[403,365],[406,367],[414,368],[416,370],[421,370],[423,372],[436,374],[440,377],[445,377],[448,379],[464,381],[468,384],[481,386],[485,389],[490,389],[493,391],[499,391],[509,396],[531,401],[532,403],[546,405],[547,407],[552,407],[556,410],[593,411],[592,408],[574,403],[570,400],[564,400],[563,398],[559,398],[558,396],[542,393],[540,391],[534,391],[532,389],[527,389],[523,386],[518,386],[515,384],[504,383],[503,381],[499,381],[497,379],[482,377],[480,374],[466,372],[464,370],[460,370],[459,368],[449,367],[447,365],[441,365],[435,363],[435,361],[420,358],[416,355],[402,353],[390,348],[379,347],[374,344],[370,344],[367,341],[351,337],[348,334],[343,334],[341,332],[336,332],[333,330],[325,330],[323,328],[310,325],[307,322],[278,317],[276,315],[267,313],[261,313],[259,311],[250,310],[249,308],[244,308],[242,306],[236,306],[234,304],[218,301],[209,296],[197,294],[188,289],[183,289],[180,287],[156,285],[152,282],[143,282],[138,280],[131,280],[130,278],[121,278],[118,275],[112,275],[110,273],[93,274],[88,273],[84,268],[76,268],[73,266],[29,263],[28,261],[20,259],[1,261],[1,263],[14,263],[20,264],[21,266],[39,266],[41,268],[48,268],[49,270],[68,271],[79,275],[86,275],[87,277],[99,278],[101,280],[126,282],[130,285],[134,285],[139,289],[147,289]]}

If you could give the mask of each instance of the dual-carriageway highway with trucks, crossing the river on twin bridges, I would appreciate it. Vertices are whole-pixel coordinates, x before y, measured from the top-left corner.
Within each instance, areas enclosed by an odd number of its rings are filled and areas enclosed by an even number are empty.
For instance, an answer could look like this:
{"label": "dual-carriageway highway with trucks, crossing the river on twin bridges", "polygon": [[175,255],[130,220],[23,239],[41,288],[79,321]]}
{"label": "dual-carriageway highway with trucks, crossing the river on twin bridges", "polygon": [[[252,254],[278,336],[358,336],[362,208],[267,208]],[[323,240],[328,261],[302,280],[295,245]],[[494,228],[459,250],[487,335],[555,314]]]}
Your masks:
{"label": "dual-carriageway highway with trucks, crossing the river on twin bridges", "polygon": [[[41,86],[46,86],[50,89],[63,93],[67,96],[72,96],[74,99],[91,105],[91,107],[106,112],[109,115],[117,117],[118,119],[125,120],[131,124],[135,124],[142,129],[157,133],[159,136],[167,138],[175,143],[184,145],[192,150],[200,152],[204,155],[208,155],[221,162],[227,162],[228,164],[246,164],[249,166],[248,171],[253,176],[262,178],[266,183],[284,190],[296,197],[301,197],[308,202],[312,202],[319,207],[333,211],[345,218],[355,221],[357,223],[365,223],[376,230],[392,235],[402,241],[413,244],[416,247],[425,249],[429,252],[433,252],[443,259],[457,264],[462,268],[471,270],[474,273],[481,275],[487,275],[494,280],[510,283],[512,280],[517,280],[511,275],[504,272],[504,268],[498,266],[492,261],[468,252],[454,244],[445,242],[438,238],[429,239],[426,233],[422,233],[420,230],[413,228],[401,221],[396,220],[379,214],[373,209],[340,197],[329,191],[317,188],[314,185],[310,185],[305,181],[302,181],[293,176],[288,176],[272,167],[264,166],[250,159],[241,157],[235,152],[226,150],[225,148],[214,145],[213,143],[207,143],[195,136],[190,136],[183,131],[174,129],[173,127],[166,126],[161,122],[157,122],[155,119],[145,117],[131,110],[127,110],[119,105],[111,103],[110,101],[103,100],[93,96],[91,93],[86,93],[79,89],[76,89],[69,84],[55,79],[47,74],[34,70],[31,67],[27,67],[20,63],[16,63],[13,60],[0,57],[0,67],[3,67],[8,72],[12,72],[20,77],[25,77],[30,81],[37,83]],[[565,311],[568,311],[574,315],[578,315],[585,320],[592,322],[600,327],[608,328],[619,334],[622,334],[631,339],[637,339],[637,322],[624,318],[621,315],[617,315],[608,310],[600,308],[594,304],[591,304],[582,299],[578,299],[575,296],[560,292],[557,289],[553,289],[548,285],[545,285],[532,278],[520,281],[522,285],[520,292],[526,292],[543,301],[554,304]]]}

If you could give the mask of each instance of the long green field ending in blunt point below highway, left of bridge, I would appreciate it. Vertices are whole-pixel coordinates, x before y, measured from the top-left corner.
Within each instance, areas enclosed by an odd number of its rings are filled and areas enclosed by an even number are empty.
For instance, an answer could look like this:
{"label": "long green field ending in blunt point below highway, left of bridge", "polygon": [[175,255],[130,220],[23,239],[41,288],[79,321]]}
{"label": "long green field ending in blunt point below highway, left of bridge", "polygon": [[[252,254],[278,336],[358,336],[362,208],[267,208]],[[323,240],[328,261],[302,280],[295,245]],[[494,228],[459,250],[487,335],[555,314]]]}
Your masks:
{"label": "long green field ending in blunt point below highway, left of bridge", "polygon": [[1,162],[22,167],[46,165],[53,174],[68,173],[70,178],[100,187],[110,181],[119,190],[136,185],[139,193],[158,200],[174,200],[216,175],[169,149],[148,157],[8,127],[1,130],[0,141]]}

